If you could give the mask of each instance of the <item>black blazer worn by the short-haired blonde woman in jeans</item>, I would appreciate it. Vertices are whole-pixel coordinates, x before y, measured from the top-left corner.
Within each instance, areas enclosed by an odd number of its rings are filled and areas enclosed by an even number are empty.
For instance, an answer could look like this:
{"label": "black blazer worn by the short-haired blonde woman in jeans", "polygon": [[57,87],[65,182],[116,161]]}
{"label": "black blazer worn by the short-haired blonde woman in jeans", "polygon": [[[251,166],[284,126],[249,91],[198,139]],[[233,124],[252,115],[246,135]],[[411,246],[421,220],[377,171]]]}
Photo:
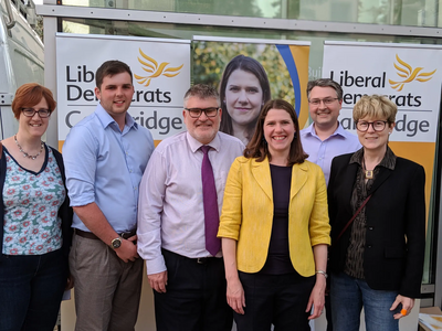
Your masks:
{"label": "black blazer worn by the short-haired blonde woman in jeans", "polygon": [[[350,197],[359,166],[349,164],[351,156],[332,162],[328,213],[333,273],[344,270],[351,233],[350,225],[339,241],[334,241],[354,214]],[[394,170],[380,167],[366,205],[364,273],[370,288],[420,297],[425,248],[424,186],[425,173],[418,163],[397,158]]]}

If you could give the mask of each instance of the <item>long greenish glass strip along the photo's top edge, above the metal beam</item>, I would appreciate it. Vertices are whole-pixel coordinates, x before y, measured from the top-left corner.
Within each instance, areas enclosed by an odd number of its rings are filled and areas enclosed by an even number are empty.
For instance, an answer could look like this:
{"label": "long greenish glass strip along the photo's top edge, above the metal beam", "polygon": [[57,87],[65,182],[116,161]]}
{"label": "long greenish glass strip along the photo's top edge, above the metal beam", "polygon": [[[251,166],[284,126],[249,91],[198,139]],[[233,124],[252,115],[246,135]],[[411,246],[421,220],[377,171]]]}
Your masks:
{"label": "long greenish glass strip along the photo's top edge, above the metal beam", "polygon": [[64,0],[66,6],[251,18],[441,26],[440,0]]}

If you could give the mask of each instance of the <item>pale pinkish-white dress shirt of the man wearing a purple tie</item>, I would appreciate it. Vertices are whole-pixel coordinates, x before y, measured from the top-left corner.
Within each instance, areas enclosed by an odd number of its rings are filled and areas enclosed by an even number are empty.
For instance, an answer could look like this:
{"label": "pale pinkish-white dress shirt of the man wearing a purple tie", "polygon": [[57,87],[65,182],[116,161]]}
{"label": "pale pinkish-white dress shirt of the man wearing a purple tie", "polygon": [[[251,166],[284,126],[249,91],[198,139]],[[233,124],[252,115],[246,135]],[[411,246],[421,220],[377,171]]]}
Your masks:
{"label": "pale pinkish-white dress shirt of the man wearing a purple tie", "polygon": [[[162,140],[143,175],[137,247],[146,260],[148,275],[166,270],[161,247],[190,258],[211,256],[206,250],[204,239],[201,146],[188,132]],[[209,146],[221,213],[230,166],[242,156],[244,145],[232,136],[218,132]]]}

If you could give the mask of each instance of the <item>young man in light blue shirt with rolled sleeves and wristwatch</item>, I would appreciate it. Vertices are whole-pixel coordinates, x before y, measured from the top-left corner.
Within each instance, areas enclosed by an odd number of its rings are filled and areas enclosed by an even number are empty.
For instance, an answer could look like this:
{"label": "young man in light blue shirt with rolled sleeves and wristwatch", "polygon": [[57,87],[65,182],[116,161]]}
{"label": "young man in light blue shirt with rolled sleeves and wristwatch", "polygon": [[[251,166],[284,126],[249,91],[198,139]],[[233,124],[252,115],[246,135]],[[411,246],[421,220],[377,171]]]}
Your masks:
{"label": "young man in light blue shirt with rolled sleeves and wristwatch", "polygon": [[134,95],[128,65],[107,61],[95,79],[99,105],[71,129],[63,146],[74,209],[75,330],[128,331],[136,323],[143,279],[138,186],[154,140],[127,114]]}

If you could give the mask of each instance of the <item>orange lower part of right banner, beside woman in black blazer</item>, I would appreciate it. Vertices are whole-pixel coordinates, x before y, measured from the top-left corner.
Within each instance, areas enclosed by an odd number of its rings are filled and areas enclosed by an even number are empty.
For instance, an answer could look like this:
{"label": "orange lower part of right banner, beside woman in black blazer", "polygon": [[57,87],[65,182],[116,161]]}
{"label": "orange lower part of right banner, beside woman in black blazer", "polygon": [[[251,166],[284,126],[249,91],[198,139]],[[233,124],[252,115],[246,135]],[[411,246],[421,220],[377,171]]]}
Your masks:
{"label": "orange lower part of right banner, beside woman in black blazer", "polygon": [[388,145],[397,157],[414,161],[425,169],[425,206],[428,220],[431,182],[433,179],[435,142],[390,141]]}

